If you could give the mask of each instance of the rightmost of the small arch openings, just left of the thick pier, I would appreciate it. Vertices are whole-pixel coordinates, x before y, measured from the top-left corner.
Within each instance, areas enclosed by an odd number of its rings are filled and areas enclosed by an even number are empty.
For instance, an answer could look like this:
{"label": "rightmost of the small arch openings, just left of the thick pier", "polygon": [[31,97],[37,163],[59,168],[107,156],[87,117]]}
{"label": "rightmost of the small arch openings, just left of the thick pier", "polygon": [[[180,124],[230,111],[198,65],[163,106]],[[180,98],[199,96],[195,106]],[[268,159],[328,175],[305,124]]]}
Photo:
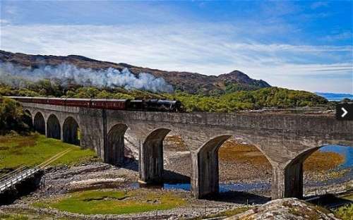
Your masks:
{"label": "rightmost of the small arch openings, just left of the thick pier", "polygon": [[69,116],[63,124],[63,141],[71,145],[80,145],[80,127],[76,120]]}

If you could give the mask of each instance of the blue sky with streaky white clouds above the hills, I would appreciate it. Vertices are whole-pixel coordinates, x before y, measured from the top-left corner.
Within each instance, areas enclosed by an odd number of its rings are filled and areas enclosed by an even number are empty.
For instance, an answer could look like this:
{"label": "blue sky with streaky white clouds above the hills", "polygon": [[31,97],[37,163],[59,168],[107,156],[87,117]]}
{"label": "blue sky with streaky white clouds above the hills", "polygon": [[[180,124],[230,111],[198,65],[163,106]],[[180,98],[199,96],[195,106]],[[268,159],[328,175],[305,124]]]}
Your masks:
{"label": "blue sky with streaky white clouds above the hills", "polygon": [[353,93],[352,1],[0,1],[6,51]]}

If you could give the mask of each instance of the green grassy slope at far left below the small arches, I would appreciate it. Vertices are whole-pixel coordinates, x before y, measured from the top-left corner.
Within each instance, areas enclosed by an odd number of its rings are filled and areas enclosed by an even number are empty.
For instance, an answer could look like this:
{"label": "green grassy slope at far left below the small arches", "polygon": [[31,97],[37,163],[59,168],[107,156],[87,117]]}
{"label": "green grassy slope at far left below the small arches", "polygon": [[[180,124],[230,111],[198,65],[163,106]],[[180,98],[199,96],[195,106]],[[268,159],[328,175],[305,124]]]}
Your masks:
{"label": "green grassy slope at far left below the small arches", "polygon": [[32,133],[27,136],[0,136],[0,172],[5,173],[21,165],[35,166],[55,154],[72,149],[71,152],[53,162],[53,165],[79,164],[85,161],[97,160],[91,149],[80,149],[79,146],[69,145],[60,140],[45,138],[44,135]]}

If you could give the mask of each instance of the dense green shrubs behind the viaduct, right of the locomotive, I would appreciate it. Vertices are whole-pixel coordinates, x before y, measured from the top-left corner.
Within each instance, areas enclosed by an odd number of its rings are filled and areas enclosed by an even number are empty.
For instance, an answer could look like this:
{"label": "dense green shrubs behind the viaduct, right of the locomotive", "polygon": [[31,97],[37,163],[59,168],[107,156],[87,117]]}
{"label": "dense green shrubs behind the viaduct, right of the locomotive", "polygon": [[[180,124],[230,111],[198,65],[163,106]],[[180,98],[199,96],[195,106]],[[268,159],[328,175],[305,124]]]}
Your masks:
{"label": "dense green shrubs behind the viaduct, right of the locomotive", "polygon": [[253,91],[239,91],[218,96],[203,96],[176,92],[167,95],[179,99],[186,111],[233,112],[245,109],[294,108],[328,104],[328,101],[311,92],[287,90],[277,87]]}

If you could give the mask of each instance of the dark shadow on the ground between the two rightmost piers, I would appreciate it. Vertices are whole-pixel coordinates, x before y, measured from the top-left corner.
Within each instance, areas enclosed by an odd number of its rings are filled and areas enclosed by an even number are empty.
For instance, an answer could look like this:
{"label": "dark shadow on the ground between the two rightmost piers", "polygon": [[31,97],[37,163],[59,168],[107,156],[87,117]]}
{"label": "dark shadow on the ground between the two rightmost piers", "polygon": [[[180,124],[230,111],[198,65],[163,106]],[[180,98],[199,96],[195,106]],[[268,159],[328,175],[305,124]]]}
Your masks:
{"label": "dark shadow on the ground between the two rightmost piers", "polygon": [[256,195],[247,192],[228,191],[205,197],[205,200],[213,200],[218,202],[232,202],[237,204],[265,204],[269,202],[270,197]]}

